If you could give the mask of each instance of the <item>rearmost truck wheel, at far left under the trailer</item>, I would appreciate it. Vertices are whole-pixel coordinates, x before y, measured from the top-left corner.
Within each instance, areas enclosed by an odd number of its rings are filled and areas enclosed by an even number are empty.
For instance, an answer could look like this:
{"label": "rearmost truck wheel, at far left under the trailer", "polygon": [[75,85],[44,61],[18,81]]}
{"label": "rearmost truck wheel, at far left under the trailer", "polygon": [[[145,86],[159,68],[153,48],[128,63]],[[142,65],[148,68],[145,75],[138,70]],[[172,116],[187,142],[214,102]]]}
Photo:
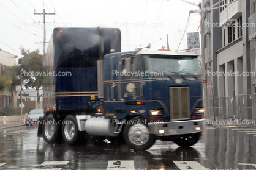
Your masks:
{"label": "rearmost truck wheel, at far left under the trailer", "polygon": [[53,115],[48,115],[43,123],[43,138],[47,143],[59,143],[61,137],[61,125],[56,123]]}

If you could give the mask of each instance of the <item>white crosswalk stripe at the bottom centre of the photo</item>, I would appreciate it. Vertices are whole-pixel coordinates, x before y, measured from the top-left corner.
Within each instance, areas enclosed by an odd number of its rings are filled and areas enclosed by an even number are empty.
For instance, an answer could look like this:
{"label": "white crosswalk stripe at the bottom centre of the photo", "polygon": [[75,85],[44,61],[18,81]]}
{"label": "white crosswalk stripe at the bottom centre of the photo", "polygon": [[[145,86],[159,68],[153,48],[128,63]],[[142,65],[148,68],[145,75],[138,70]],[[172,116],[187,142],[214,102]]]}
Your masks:
{"label": "white crosswalk stripe at the bottom centre of the photo", "polygon": [[107,170],[132,170],[135,169],[134,161],[124,161],[124,160],[116,160],[116,161],[108,161]]}

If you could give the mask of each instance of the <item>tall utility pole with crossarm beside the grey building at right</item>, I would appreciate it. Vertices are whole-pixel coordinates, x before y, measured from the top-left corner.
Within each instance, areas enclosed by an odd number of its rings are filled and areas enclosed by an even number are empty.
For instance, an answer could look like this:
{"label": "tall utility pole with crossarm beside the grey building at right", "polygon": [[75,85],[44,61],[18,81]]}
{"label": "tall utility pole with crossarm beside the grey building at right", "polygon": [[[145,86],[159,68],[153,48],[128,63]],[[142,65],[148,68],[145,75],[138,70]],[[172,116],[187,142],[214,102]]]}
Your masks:
{"label": "tall utility pole with crossarm beside the grey building at right", "polygon": [[203,97],[205,102],[205,118],[209,119],[208,115],[208,95],[207,95],[207,81],[205,75],[205,47],[203,44],[203,13],[211,13],[210,10],[203,10],[201,9],[201,2],[198,4],[199,10],[190,10],[190,13],[200,13],[200,32],[201,32],[201,62],[202,62],[202,69],[203,69]]}

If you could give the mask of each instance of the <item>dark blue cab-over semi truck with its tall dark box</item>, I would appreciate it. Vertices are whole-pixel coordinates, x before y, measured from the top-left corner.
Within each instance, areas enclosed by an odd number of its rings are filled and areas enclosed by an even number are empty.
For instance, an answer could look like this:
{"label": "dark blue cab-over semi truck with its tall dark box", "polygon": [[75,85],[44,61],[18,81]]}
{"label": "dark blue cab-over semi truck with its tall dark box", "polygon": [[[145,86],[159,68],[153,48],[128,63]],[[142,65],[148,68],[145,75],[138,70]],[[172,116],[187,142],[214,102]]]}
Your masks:
{"label": "dark blue cab-over semi truck with its tall dark box", "polygon": [[38,136],[47,143],[122,138],[146,150],[156,139],[189,147],[204,127],[197,54],[121,51],[115,28],[56,28],[43,68]]}

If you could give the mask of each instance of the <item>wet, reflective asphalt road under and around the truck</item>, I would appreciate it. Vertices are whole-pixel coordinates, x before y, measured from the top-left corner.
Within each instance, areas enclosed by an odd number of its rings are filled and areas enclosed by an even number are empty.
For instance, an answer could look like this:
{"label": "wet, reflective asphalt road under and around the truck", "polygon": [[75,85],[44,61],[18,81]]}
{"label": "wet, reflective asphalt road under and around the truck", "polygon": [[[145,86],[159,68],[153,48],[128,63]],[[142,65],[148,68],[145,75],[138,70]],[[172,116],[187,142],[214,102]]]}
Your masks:
{"label": "wet, reflective asphalt road under and around the truck", "polygon": [[22,126],[0,130],[0,169],[256,169],[255,135],[256,129],[207,127],[192,147],[157,140],[137,152],[103,141],[47,144],[37,138],[37,127]]}

